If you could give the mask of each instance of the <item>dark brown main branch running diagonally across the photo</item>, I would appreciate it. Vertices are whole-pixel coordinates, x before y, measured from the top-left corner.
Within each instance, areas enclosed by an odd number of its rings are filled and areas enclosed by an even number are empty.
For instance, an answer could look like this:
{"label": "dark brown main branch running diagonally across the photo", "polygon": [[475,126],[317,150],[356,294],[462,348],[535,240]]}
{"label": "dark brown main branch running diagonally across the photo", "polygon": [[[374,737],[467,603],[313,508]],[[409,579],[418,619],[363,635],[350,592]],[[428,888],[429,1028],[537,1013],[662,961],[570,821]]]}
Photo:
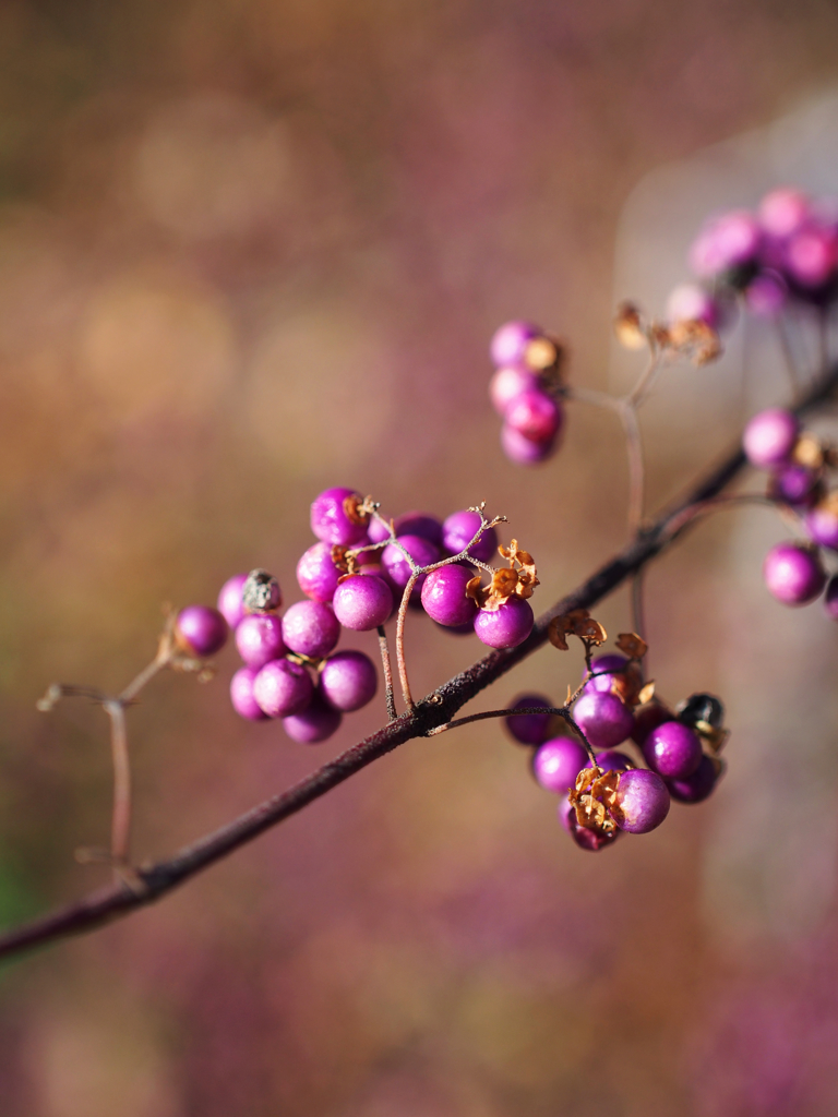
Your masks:
{"label": "dark brown main branch running diagonally across the photo", "polygon": [[[838,385],[838,366],[800,401],[796,411],[803,413],[827,400]],[[302,811],[332,787],[355,772],[392,752],[406,741],[428,735],[453,720],[457,710],[516,663],[531,656],[547,638],[547,626],[554,617],[572,609],[590,609],[611,593],[636,571],[641,570],[687,527],[684,513],[721,493],[745,464],[736,448],[711,469],[678,500],[670,504],[651,524],[596,571],[585,582],[558,601],[537,619],[530,638],[510,651],[493,651],[467,670],[427,695],[412,712],[404,713],[371,737],[349,748],[334,761],[294,784],[280,795],[266,800],[213,833],[180,850],[168,861],[141,866],[131,880],[101,888],[75,904],[13,928],[0,936],[0,958],[29,947],[54,942],[66,935],[92,930],[171,891],[197,872],[258,838],[265,830]],[[679,526],[683,525],[683,526]]]}

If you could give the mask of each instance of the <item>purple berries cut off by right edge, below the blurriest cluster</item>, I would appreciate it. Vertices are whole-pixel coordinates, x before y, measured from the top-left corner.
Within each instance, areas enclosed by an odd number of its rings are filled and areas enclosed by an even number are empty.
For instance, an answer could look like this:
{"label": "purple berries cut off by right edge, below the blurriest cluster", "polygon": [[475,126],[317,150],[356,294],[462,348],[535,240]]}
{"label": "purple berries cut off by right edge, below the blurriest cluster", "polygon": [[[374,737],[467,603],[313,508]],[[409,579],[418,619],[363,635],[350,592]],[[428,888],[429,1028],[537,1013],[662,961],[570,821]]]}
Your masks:
{"label": "purple berries cut off by right edge, below the blurriest cluster", "polygon": [[838,620],[838,576],[830,579],[823,564],[823,552],[838,552],[838,490],[827,488],[834,451],[781,408],[751,419],[743,448],[752,466],[768,470],[769,497],[797,514],[808,536],[769,551],[763,577],[770,593],[785,605],[808,605],[827,586],[826,612]]}

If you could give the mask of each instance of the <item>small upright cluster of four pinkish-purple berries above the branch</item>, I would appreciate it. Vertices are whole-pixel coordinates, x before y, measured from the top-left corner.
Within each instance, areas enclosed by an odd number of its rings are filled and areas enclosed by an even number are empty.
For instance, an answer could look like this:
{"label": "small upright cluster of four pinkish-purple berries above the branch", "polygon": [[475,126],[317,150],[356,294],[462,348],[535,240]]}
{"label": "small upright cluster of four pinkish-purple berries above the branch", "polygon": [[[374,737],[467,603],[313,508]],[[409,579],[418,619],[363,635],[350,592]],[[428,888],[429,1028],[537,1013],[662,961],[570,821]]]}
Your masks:
{"label": "small upright cluster of four pinkish-purple berries above the branch", "polygon": [[561,386],[562,346],[532,322],[507,322],[492,338],[495,373],[492,404],[503,419],[501,446],[511,461],[534,466],[559,448],[564,410]]}

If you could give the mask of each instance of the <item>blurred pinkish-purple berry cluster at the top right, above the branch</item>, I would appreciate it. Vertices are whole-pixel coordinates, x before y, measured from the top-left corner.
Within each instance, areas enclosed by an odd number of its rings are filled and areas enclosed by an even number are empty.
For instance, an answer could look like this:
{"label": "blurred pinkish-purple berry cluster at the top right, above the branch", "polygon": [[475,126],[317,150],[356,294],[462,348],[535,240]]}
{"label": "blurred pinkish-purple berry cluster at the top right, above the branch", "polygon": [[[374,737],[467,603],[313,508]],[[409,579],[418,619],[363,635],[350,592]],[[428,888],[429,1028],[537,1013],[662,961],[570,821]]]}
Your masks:
{"label": "blurred pinkish-purple berry cluster at the top right, above the branch", "polygon": [[838,208],[790,187],[772,190],[753,213],[711,218],[693,241],[689,265],[702,285],[673,290],[667,314],[674,322],[722,328],[739,297],[762,316],[790,300],[823,307],[838,294]]}

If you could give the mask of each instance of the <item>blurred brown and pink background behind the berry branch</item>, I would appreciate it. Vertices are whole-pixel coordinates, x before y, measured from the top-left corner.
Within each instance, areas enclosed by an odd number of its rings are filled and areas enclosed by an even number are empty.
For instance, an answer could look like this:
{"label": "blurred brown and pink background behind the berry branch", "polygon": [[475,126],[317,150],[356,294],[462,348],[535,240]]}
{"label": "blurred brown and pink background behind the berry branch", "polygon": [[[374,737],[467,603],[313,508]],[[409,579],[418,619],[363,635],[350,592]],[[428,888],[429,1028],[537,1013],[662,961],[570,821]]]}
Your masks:
{"label": "blurred brown and pink background behind the berry branch", "polygon": [[[610,417],[577,408],[550,465],[506,464],[488,338],[535,318],[569,337],[575,382],[619,386],[637,365],[612,351],[616,298],[660,312],[706,209],[773,174],[838,191],[818,101],[838,13],[21,0],[0,59],[11,923],[107,876],[73,859],[107,840],[104,716],[36,699],[124,685],[162,603],[211,603],[237,571],[295,600],[321,489],[391,514],[487,500],[535,554],[542,605],[619,545]],[[766,338],[737,336],[661,382],[654,502],[782,392]],[[835,1113],[838,640],[762,589],[783,533],[718,517],[649,577],[661,694],[729,704],[711,802],[594,858],[498,725],[413,742],[158,907],[0,971],[3,1117]],[[597,615],[628,627],[625,594]],[[410,618],[416,691],[479,650]],[[377,701],[316,747],[245,724],[235,659],[131,712],[137,857],[381,724]],[[482,701],[560,698],[579,667],[544,650]]]}

